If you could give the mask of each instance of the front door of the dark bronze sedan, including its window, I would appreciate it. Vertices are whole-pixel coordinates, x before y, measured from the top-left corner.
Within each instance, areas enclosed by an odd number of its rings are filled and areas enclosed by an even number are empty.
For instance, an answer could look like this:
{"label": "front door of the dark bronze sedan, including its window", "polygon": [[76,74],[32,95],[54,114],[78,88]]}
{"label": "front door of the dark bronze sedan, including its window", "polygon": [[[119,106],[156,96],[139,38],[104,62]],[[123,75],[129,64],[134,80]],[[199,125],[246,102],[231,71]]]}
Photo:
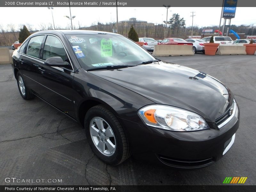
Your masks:
{"label": "front door of the dark bronze sedan, including its window", "polygon": [[68,116],[75,117],[72,100],[74,70],[68,53],[57,36],[47,35],[41,57],[44,61],[50,57],[61,57],[63,62],[70,64],[68,68],[64,68],[40,63],[38,82],[41,87],[40,97]]}

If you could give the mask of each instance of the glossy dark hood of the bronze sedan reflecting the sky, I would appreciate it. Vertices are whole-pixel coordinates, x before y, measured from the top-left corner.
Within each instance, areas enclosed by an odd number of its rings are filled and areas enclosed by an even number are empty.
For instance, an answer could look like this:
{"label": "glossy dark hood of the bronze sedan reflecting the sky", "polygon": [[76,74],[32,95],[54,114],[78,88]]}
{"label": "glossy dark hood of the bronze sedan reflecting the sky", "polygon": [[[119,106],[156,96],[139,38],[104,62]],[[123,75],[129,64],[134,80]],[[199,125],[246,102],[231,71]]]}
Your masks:
{"label": "glossy dark hood of the bronze sedan reflecting the sky", "polygon": [[211,123],[231,107],[234,99],[232,92],[212,76],[164,61],[89,73],[123,86],[157,104],[196,112]]}

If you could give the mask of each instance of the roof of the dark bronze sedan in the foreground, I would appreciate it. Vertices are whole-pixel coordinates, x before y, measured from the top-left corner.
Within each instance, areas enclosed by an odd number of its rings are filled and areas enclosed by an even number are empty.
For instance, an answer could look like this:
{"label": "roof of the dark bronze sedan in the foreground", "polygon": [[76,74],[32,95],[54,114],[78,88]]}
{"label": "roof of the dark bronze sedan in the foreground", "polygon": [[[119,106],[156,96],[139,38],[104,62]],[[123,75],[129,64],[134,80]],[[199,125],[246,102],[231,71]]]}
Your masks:
{"label": "roof of the dark bronze sedan in the foreground", "polygon": [[[53,34],[53,35],[81,35],[81,34],[108,34],[108,35],[119,35],[117,33],[111,33],[106,31],[91,31],[91,30],[43,30],[33,33],[37,34]],[[119,35],[121,36],[121,35]]]}

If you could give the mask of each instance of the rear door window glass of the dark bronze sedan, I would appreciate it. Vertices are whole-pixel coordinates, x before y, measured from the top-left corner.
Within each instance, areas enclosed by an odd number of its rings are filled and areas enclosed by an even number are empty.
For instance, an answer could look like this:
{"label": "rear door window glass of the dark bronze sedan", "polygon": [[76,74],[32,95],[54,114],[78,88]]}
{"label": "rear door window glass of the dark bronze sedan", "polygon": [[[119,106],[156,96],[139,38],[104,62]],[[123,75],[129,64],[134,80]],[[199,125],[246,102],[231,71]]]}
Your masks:
{"label": "rear door window glass of the dark bronze sedan", "polygon": [[28,42],[27,55],[39,58],[39,50],[43,42],[44,35],[32,37]]}

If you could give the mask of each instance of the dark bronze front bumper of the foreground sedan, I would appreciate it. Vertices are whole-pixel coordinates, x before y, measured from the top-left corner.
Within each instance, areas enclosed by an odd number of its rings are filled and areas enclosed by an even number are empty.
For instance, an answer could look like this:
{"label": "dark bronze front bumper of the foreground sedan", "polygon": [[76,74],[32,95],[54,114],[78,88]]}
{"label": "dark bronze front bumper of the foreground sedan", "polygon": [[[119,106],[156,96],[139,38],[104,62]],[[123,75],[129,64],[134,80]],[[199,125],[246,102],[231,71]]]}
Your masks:
{"label": "dark bronze front bumper of the foreground sedan", "polygon": [[[239,127],[240,115],[221,129],[173,132],[120,119],[128,134],[133,156],[176,168],[199,168],[218,161]],[[227,152],[227,151],[226,151]]]}

